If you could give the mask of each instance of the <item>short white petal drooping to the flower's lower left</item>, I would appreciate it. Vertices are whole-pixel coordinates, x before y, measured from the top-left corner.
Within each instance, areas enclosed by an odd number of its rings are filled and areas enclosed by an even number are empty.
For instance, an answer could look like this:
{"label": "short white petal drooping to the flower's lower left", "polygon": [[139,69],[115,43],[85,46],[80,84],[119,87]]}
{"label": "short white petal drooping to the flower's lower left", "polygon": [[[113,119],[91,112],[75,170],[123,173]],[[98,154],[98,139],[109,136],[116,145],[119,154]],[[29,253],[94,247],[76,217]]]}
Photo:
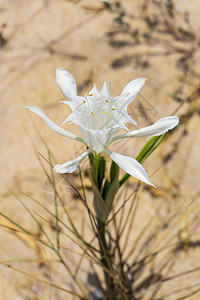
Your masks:
{"label": "short white petal drooping to the flower's lower left", "polygon": [[78,156],[73,160],[70,160],[62,165],[55,165],[54,170],[60,174],[72,173],[78,168],[79,164],[90,152],[91,150],[88,149],[87,151],[83,152],[80,156]]}

